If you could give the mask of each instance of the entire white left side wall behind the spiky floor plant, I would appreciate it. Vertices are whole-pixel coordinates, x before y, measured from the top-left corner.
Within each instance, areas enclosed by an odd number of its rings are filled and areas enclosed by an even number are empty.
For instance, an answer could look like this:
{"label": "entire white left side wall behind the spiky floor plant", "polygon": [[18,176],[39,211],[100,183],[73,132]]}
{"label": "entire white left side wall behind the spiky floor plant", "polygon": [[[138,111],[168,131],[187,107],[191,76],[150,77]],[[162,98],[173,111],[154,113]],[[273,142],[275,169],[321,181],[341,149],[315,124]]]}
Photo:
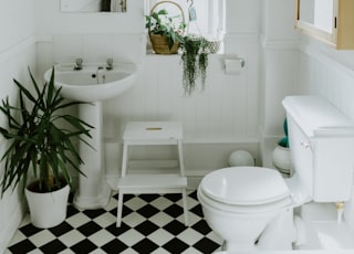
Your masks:
{"label": "entire white left side wall behind the spiky floor plant", "polygon": [[[18,89],[12,81],[29,84],[28,67],[35,73],[35,36],[33,1],[0,1],[0,97],[15,103]],[[6,126],[0,114],[0,125]],[[0,137],[0,155],[3,155],[7,141]],[[3,163],[0,163],[0,179]],[[0,198],[0,253],[3,253],[24,212],[25,201],[18,189],[9,190]]]}

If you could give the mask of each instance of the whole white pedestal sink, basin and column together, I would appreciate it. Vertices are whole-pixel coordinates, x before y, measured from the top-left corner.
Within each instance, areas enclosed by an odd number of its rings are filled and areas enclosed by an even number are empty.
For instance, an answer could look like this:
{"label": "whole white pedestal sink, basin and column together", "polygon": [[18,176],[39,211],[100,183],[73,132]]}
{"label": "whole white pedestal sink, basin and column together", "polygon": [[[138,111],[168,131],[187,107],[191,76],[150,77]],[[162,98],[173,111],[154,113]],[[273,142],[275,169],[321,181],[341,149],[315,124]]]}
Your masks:
{"label": "whole white pedestal sink, basin and column together", "polygon": [[[101,67],[103,66],[103,68]],[[136,82],[137,68],[134,64],[115,64],[105,70],[104,64],[86,64],[74,71],[73,64],[58,64],[55,67],[55,87],[62,87],[63,97],[88,102],[79,106],[79,116],[95,127],[92,139],[80,141],[80,156],[84,161],[80,169],[85,176],[79,177],[79,190],[74,204],[80,209],[105,207],[111,198],[111,188],[105,179],[104,151],[102,142],[102,100],[116,97],[131,88]],[[44,74],[49,81],[52,70]]]}

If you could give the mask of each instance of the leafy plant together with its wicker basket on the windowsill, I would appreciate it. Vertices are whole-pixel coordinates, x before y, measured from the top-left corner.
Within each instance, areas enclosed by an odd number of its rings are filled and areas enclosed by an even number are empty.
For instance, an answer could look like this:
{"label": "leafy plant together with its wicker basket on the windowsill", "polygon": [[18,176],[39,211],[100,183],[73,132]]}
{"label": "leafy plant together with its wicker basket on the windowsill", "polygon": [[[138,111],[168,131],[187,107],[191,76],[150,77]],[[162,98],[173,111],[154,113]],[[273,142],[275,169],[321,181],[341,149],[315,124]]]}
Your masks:
{"label": "leafy plant together with its wicker basket on the windowsill", "polygon": [[166,9],[156,12],[155,8],[156,6],[149,15],[145,15],[145,28],[148,29],[153,49],[157,54],[176,54],[184,40],[183,34],[186,28],[183,14],[171,17]]}

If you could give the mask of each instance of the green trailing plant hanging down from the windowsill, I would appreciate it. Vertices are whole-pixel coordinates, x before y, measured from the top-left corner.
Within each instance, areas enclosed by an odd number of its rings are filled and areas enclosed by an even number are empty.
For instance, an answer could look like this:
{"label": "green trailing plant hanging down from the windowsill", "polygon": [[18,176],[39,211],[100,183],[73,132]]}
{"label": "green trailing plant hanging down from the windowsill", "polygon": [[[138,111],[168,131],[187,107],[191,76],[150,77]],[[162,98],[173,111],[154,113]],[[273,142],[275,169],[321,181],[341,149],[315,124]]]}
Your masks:
{"label": "green trailing plant hanging down from the windowsill", "polygon": [[187,35],[183,42],[183,84],[185,94],[196,89],[196,80],[200,76],[201,88],[205,88],[208,67],[208,43],[204,36]]}

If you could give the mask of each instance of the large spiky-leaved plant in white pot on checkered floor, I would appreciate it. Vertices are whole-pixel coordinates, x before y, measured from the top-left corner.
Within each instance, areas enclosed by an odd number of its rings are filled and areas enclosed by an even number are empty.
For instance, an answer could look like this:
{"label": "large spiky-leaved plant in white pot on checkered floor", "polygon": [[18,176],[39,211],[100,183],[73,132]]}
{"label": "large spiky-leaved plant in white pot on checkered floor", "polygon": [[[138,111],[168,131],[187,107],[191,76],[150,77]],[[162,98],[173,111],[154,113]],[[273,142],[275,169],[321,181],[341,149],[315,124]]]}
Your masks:
{"label": "large spiky-leaved plant in white pot on checkered floor", "polygon": [[[82,135],[91,137],[93,127],[62,112],[81,103],[64,100],[60,89],[54,88],[54,68],[43,88],[30,70],[29,73],[33,89],[13,80],[20,91],[19,105],[10,105],[7,98],[0,106],[7,120],[7,126],[0,127],[0,134],[8,140],[1,157],[4,161],[1,193],[13,190],[21,182],[32,224],[52,227],[66,216],[71,187],[69,167],[81,173],[79,165],[83,161],[73,139],[82,139]],[[35,180],[27,184],[32,177]]]}

